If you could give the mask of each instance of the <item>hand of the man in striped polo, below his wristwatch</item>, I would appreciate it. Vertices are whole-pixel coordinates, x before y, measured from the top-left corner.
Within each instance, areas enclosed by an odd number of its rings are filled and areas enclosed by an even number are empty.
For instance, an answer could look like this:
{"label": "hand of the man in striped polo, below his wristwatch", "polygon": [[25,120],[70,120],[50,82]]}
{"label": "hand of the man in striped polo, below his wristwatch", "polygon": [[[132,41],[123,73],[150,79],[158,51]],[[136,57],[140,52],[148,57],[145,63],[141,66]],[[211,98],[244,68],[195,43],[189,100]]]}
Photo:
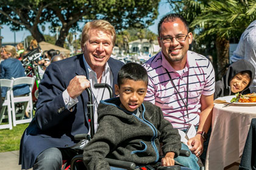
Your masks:
{"label": "hand of the man in striped polo, below his wristwatch", "polygon": [[188,146],[191,146],[189,147],[190,151],[194,155],[196,155],[196,157],[200,157],[200,155],[204,151],[204,139],[201,137],[200,134],[197,134],[195,137],[188,140]]}

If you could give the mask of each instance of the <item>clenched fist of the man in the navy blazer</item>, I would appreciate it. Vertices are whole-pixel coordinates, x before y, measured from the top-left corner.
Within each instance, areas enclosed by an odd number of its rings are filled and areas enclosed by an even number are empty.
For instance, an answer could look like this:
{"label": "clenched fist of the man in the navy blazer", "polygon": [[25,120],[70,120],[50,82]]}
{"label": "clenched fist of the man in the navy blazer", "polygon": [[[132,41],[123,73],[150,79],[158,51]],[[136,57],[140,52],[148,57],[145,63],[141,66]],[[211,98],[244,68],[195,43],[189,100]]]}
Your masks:
{"label": "clenched fist of the man in the navy blazer", "polygon": [[78,97],[88,87],[90,87],[90,81],[84,75],[77,75],[69,81],[67,88],[69,97],[73,99]]}

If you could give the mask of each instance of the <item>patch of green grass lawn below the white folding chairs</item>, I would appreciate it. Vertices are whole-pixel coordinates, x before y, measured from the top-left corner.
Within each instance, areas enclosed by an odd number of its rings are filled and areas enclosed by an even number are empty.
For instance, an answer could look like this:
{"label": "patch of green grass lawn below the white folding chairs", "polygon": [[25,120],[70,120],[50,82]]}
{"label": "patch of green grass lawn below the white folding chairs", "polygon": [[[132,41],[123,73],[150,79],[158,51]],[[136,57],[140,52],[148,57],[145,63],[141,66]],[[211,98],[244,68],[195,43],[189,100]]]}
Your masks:
{"label": "patch of green grass lawn below the white folding chairs", "polygon": [[20,140],[24,130],[29,126],[26,124],[17,124],[12,130],[0,130],[0,152],[17,151],[20,149]]}

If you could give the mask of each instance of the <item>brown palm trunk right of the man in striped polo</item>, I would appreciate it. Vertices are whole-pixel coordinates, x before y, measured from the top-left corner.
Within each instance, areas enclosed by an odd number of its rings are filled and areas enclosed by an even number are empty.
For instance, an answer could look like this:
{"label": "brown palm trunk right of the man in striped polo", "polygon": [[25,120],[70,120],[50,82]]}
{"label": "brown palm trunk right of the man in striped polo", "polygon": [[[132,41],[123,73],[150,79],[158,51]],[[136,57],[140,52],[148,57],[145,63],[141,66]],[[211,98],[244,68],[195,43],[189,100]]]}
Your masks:
{"label": "brown palm trunk right of the man in striped polo", "polygon": [[229,40],[220,37],[216,38],[216,50],[218,60],[216,78],[219,80],[226,73],[229,66]]}

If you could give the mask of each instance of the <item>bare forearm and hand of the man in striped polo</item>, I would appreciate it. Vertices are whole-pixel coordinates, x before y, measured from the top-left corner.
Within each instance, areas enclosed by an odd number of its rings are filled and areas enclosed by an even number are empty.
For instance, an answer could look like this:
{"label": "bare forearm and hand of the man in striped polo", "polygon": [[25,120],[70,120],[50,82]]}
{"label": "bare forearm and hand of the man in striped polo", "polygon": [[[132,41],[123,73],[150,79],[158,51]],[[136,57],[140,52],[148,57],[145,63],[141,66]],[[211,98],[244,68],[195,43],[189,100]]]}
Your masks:
{"label": "bare forearm and hand of the man in striped polo", "polygon": [[[199,120],[199,126],[197,132],[208,132],[212,124],[212,110],[213,110],[213,94],[201,96],[201,114]],[[195,137],[188,140],[188,145],[192,146],[190,151],[197,157],[202,154],[204,138],[201,134],[197,134]],[[198,153],[200,151],[200,154]]]}

